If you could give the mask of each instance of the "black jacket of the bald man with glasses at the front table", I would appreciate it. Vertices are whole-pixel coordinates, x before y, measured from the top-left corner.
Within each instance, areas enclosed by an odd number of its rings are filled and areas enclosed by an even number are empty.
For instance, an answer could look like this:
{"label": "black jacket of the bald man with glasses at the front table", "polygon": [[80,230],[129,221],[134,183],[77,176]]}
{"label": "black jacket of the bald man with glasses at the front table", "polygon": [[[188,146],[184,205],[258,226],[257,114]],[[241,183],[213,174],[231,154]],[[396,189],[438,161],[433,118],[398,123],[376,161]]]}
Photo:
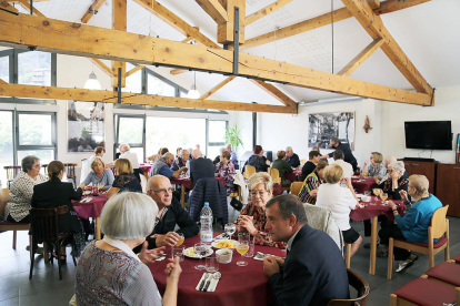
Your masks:
{"label": "black jacket of the bald man with glasses at the front table", "polygon": [[[174,232],[176,224],[179,225],[179,230],[176,233],[182,233],[186,238],[192,237],[200,232],[200,228],[190,217],[189,213],[182,208],[176,197],[172,197],[171,205],[168,206],[168,212],[153,228],[153,232],[146,238],[149,243],[149,249],[157,247],[157,239],[150,238],[151,235],[164,235],[169,232]],[[139,253],[141,249],[142,245],[136,247],[134,253]]]}

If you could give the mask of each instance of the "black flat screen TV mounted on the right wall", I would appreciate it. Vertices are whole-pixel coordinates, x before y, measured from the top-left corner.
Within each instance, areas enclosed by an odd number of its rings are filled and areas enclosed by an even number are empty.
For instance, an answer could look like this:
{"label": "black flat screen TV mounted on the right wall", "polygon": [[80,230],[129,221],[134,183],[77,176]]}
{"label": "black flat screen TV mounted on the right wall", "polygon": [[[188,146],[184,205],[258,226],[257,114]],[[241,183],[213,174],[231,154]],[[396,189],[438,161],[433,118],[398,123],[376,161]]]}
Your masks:
{"label": "black flat screen TV mounted on the right wall", "polygon": [[450,121],[407,121],[404,131],[407,149],[452,150]]}

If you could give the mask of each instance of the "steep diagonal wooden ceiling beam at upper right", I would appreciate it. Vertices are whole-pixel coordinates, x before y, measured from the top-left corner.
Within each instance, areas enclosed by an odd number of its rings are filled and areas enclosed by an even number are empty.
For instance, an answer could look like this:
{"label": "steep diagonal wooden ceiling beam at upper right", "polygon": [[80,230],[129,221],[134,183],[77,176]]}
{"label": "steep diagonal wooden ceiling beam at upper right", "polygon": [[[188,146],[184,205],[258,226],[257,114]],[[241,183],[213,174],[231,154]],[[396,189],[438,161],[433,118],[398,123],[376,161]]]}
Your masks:
{"label": "steep diagonal wooden ceiling beam at upper right", "polygon": [[384,27],[380,16],[377,16],[369,4],[361,0],[342,0],[343,4],[354,16],[364,30],[372,37],[372,39],[383,39],[381,45],[382,51],[404,75],[404,78],[412,84],[412,86],[421,93],[432,95],[433,89],[424,80],[423,75],[417,70],[414,64],[409,60],[393,37]]}

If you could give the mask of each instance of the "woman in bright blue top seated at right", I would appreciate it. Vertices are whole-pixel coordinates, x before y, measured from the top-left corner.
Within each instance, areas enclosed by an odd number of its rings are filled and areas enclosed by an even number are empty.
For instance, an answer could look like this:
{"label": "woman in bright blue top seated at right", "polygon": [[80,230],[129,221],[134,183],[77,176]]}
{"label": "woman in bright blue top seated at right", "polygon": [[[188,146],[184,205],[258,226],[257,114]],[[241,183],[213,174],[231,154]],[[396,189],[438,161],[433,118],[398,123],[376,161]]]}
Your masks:
{"label": "woman in bright blue top seated at right", "polygon": [[[428,243],[428,227],[431,226],[431,216],[434,211],[442,207],[441,201],[428,192],[429,181],[424,175],[411,175],[409,177],[408,191],[400,191],[401,198],[409,206],[406,215],[402,217],[392,201],[388,206],[393,211],[397,224],[391,224],[380,230],[379,237],[382,244],[389,244],[389,238],[408,241],[412,243]],[[411,201],[408,198],[411,196]],[[412,204],[411,204],[412,203]],[[433,239],[438,242],[438,239]],[[410,251],[394,247],[394,259],[400,261],[397,272],[401,273],[418,259],[416,254]]]}

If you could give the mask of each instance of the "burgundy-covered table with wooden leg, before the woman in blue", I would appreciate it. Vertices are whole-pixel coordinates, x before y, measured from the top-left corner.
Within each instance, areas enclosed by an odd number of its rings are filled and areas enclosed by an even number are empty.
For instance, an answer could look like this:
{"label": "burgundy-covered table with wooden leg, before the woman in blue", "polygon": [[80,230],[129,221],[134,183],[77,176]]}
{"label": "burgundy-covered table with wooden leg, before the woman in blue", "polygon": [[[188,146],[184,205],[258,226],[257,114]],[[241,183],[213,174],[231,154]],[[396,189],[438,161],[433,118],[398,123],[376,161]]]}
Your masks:
{"label": "burgundy-covered table with wooden leg, before the woman in blue", "polygon": [[[392,200],[391,200],[392,201]],[[406,206],[402,201],[392,201],[398,205],[398,213],[403,215],[406,213]],[[354,211],[351,211],[350,218],[353,221],[363,221],[363,220],[372,220],[372,227],[371,227],[371,251],[370,251],[370,266],[369,266],[369,274],[376,274],[376,257],[377,257],[377,226],[379,223],[379,216],[384,215],[390,221],[394,221],[393,212],[391,211],[388,204],[383,204],[382,200],[377,196],[371,196],[370,202],[362,202],[360,201],[361,205],[366,207],[360,207]]]}

